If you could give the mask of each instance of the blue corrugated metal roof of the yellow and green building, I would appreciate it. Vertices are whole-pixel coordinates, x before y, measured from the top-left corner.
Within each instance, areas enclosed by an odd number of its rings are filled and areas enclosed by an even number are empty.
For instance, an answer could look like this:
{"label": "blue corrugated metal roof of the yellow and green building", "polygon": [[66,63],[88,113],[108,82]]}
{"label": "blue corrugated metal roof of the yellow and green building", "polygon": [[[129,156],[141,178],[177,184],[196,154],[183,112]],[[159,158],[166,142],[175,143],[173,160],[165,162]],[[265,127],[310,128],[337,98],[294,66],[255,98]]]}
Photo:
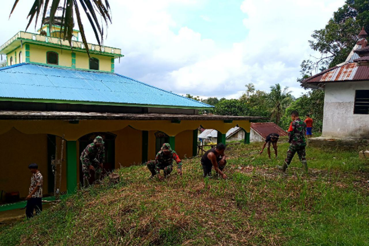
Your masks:
{"label": "blue corrugated metal roof of the yellow and green building", "polygon": [[0,99],[211,108],[116,73],[21,63],[0,68]]}

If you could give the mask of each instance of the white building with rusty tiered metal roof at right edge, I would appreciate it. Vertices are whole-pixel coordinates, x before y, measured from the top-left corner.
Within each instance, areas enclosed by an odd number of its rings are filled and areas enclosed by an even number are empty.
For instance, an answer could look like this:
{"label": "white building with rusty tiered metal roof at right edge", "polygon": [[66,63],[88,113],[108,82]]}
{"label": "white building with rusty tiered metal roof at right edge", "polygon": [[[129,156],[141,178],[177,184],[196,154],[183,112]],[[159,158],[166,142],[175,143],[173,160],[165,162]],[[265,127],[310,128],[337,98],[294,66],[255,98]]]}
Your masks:
{"label": "white building with rusty tiered metal roof at right edge", "polygon": [[325,90],[322,138],[369,139],[369,46],[364,28],[346,61],[303,80]]}

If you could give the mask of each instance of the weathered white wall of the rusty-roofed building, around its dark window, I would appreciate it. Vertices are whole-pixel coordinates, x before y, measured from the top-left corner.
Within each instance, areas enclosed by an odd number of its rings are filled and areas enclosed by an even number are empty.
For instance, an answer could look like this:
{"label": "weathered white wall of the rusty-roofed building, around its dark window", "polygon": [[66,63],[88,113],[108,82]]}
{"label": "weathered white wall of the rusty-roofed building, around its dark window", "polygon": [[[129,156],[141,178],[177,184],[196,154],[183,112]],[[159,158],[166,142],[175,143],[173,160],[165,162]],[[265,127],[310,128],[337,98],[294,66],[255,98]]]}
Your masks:
{"label": "weathered white wall of the rusty-roofed building, around its dark window", "polygon": [[369,82],[325,85],[322,136],[369,138],[369,115],[354,114],[355,90],[369,90]]}

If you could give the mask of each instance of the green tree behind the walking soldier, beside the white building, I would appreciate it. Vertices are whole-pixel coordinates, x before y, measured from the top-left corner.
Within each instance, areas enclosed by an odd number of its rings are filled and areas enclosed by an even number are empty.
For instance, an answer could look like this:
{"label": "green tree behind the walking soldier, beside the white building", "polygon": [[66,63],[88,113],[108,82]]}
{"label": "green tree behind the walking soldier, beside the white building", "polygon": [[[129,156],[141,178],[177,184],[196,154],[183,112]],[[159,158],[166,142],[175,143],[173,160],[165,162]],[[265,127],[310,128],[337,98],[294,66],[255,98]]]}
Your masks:
{"label": "green tree behind the walking soldier, beside the white building", "polygon": [[323,108],[324,108],[324,91],[313,90],[303,94],[301,97],[293,101],[286,109],[282,118],[282,127],[287,129],[291,122],[291,112],[297,110],[300,118],[304,119],[305,115],[310,114],[313,118],[313,128],[315,132],[321,132],[323,128]]}

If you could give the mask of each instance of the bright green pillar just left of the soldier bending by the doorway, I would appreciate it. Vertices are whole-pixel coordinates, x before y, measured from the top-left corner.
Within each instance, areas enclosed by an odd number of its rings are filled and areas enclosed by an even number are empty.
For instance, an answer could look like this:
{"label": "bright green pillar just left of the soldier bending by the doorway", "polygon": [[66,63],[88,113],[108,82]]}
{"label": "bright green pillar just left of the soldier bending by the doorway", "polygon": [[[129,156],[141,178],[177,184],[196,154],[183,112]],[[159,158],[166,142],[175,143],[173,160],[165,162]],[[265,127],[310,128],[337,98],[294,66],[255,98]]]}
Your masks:
{"label": "bright green pillar just left of the soldier bending by the doorway", "polygon": [[77,190],[77,142],[66,143],[66,165],[67,165],[67,193],[74,194]]}

